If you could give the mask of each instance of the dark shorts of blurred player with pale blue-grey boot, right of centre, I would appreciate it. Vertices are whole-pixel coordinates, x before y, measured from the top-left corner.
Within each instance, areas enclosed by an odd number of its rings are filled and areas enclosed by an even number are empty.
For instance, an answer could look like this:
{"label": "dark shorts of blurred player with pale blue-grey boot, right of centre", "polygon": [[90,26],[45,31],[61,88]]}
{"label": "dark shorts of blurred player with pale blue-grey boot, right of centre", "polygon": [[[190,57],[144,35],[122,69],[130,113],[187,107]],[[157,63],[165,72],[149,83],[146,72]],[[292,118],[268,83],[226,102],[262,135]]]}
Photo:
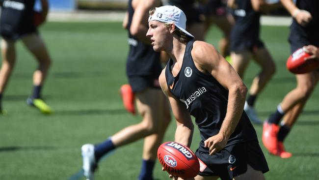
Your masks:
{"label": "dark shorts of blurred player with pale blue-grey boot, right of centre", "polygon": [[257,49],[265,47],[260,39],[232,38],[230,42],[230,50],[234,52],[248,50],[253,53]]}

